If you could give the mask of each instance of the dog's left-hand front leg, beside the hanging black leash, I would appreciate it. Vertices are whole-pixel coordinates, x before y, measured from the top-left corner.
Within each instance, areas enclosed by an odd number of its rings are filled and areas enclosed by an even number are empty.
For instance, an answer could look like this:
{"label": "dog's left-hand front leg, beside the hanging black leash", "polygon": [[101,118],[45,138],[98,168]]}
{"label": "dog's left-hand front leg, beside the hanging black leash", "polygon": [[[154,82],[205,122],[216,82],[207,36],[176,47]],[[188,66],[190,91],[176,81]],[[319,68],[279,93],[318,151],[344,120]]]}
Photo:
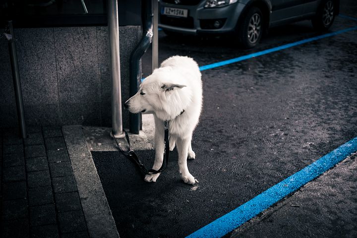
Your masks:
{"label": "dog's left-hand front leg, beside the hanging black leash", "polygon": [[[162,166],[164,159],[164,126],[159,119],[155,119],[155,162],[153,165],[153,170],[159,170]],[[156,182],[156,179],[160,176],[158,174],[146,175],[146,182]]]}

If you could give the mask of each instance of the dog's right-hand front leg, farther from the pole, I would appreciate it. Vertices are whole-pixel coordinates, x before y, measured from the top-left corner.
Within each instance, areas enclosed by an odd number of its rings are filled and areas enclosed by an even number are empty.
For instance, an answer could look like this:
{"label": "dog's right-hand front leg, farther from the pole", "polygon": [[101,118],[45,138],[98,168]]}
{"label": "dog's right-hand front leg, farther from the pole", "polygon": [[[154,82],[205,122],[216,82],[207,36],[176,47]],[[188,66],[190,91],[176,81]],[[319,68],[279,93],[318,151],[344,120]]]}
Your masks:
{"label": "dog's right-hand front leg, farther from the pole", "polygon": [[182,180],[188,184],[194,184],[195,182],[198,182],[189,173],[187,168],[187,153],[188,147],[191,144],[191,137],[185,139],[178,138],[176,144],[179,151],[179,172],[181,174]]}

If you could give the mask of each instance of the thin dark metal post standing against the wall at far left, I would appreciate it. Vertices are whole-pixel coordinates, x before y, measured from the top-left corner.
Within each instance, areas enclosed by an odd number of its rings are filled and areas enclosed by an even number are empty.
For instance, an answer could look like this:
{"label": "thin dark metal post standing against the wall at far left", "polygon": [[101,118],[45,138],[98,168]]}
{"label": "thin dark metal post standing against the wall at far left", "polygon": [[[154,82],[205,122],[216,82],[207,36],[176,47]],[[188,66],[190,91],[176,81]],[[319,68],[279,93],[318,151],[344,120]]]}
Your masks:
{"label": "thin dark metal post standing against the wall at far left", "polygon": [[15,91],[17,119],[18,119],[19,125],[20,125],[21,137],[26,138],[27,133],[26,133],[25,116],[24,116],[23,102],[22,102],[20,76],[19,76],[18,64],[17,64],[15,35],[14,35],[13,28],[12,28],[12,21],[7,21],[7,23],[8,23],[8,27],[9,27],[10,35],[11,35],[11,39],[8,40],[8,47],[9,47],[12,79],[13,79],[13,85],[14,85],[14,91]]}

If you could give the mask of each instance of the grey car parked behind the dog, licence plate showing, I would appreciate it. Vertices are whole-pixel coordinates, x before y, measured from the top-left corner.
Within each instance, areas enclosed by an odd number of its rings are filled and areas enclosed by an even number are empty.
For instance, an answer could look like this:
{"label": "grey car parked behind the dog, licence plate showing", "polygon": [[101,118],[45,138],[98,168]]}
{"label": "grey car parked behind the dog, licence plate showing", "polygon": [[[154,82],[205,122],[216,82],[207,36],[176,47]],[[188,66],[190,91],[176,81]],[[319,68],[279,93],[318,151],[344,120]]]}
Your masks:
{"label": "grey car parked behind the dog, licence plate showing", "polygon": [[233,34],[245,48],[256,46],[269,27],[311,19],[326,31],[340,0],[160,0],[159,27],[167,34]]}

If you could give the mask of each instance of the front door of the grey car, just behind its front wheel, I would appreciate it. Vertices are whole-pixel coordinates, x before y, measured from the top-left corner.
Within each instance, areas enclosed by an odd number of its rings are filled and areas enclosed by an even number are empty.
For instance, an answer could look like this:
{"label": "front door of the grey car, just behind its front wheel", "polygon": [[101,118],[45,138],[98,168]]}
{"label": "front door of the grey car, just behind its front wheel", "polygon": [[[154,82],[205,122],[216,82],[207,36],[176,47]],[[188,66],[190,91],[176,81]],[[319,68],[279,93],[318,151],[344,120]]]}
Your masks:
{"label": "front door of the grey car, just behind its front wheel", "polygon": [[294,21],[302,15],[304,0],[271,0],[271,2],[271,26]]}

